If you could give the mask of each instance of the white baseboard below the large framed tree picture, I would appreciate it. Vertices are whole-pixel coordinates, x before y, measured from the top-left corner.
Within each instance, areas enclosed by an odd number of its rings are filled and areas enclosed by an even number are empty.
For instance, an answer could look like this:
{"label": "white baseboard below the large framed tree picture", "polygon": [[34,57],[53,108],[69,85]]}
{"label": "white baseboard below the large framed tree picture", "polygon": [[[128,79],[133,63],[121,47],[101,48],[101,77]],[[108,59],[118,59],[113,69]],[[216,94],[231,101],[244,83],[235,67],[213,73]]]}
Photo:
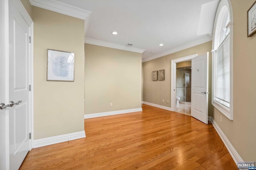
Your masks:
{"label": "white baseboard below the large framed tree picture", "polygon": [[74,139],[80,139],[86,137],[85,131],[75,132],[75,133],[68,133],[65,135],[58,135],[54,137],[46,137],[43,139],[36,139],[34,140],[34,148],[44,147],[47,145],[52,145],[56,143],[71,141]]}

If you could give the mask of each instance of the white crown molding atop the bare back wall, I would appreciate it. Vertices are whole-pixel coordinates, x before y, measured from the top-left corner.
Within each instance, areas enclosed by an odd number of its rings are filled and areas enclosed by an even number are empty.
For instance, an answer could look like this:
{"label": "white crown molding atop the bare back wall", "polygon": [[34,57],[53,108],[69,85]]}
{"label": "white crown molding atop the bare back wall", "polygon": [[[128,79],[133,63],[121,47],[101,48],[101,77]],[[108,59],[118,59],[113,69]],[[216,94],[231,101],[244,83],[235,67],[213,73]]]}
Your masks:
{"label": "white crown molding atop the bare back wall", "polygon": [[132,52],[135,52],[135,53],[143,53],[145,51],[144,49],[138,49],[138,48],[134,48],[134,47],[127,47],[125,45],[108,43],[106,41],[100,41],[100,40],[90,39],[90,38],[85,38],[84,43],[92,44],[92,45],[99,45],[99,46],[102,46],[102,47],[109,47],[109,48],[112,48],[112,49],[132,51]]}

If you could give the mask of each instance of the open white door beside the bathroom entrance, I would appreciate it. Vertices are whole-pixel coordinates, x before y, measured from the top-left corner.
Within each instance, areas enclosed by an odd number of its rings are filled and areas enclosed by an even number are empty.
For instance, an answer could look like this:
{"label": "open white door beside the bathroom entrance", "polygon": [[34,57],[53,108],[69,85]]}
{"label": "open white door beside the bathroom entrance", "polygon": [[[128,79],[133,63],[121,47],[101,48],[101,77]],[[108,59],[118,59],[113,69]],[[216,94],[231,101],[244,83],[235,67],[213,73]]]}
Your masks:
{"label": "open white door beside the bathroom entrance", "polygon": [[191,115],[208,124],[209,53],[192,59]]}

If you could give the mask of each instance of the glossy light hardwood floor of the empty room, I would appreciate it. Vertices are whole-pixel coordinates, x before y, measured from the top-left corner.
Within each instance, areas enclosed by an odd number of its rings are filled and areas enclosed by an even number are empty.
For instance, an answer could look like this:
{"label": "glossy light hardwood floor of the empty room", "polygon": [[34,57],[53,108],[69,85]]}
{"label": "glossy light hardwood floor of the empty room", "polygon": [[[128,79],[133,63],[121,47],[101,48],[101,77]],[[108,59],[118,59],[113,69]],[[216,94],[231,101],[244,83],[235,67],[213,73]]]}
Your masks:
{"label": "glossy light hardwood floor of the empty room", "polygon": [[84,120],[86,138],[32,149],[20,170],[235,170],[211,123],[142,104]]}

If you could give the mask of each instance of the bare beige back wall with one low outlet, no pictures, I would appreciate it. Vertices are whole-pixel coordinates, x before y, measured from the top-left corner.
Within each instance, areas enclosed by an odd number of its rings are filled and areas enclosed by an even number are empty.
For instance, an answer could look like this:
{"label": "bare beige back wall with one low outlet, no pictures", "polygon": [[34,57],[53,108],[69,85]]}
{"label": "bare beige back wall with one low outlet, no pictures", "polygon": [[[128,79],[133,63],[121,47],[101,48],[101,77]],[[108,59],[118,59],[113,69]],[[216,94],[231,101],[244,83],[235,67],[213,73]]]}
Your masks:
{"label": "bare beige back wall with one low outlet, no pictures", "polygon": [[85,44],[85,114],[141,108],[141,61],[140,53]]}

